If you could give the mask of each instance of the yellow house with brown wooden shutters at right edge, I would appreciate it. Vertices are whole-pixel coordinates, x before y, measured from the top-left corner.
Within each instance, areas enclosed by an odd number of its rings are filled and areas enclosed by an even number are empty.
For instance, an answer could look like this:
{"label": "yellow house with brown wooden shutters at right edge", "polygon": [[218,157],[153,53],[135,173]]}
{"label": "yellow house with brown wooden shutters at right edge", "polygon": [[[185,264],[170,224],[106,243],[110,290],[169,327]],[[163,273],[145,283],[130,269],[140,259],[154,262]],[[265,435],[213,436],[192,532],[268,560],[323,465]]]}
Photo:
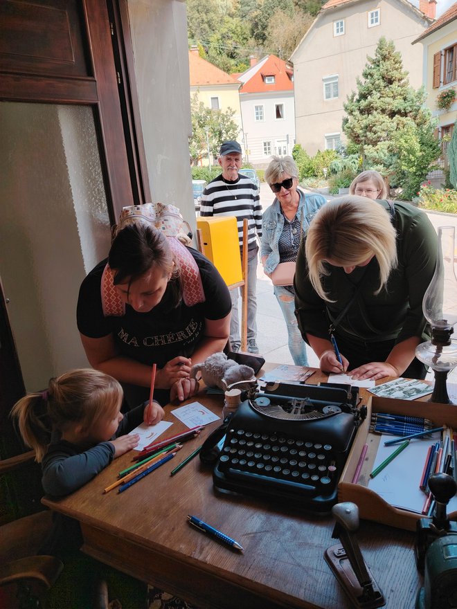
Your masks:
{"label": "yellow house with brown wooden shutters at right edge", "polygon": [[[424,50],[424,85],[427,105],[438,118],[438,137],[442,143],[442,164],[457,120],[457,2],[416,38]],[[419,45],[418,45],[419,46]],[[438,99],[454,91],[449,107],[438,107]]]}

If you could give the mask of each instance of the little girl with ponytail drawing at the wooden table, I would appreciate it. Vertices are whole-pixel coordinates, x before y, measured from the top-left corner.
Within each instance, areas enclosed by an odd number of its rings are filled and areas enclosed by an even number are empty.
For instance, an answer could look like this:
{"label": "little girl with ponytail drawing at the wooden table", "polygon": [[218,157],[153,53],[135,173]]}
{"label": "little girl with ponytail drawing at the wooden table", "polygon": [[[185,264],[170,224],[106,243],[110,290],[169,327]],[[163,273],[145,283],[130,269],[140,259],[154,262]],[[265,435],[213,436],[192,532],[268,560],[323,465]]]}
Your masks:
{"label": "little girl with ponytail drawing at the wooden table", "polygon": [[122,402],[116,379],[82,368],[51,379],[46,390],[13,406],[11,416],[42,464],[46,494],[73,493],[138,444],[138,434],[127,434],[143,421],[152,424],[152,409],[146,402],[123,415]]}

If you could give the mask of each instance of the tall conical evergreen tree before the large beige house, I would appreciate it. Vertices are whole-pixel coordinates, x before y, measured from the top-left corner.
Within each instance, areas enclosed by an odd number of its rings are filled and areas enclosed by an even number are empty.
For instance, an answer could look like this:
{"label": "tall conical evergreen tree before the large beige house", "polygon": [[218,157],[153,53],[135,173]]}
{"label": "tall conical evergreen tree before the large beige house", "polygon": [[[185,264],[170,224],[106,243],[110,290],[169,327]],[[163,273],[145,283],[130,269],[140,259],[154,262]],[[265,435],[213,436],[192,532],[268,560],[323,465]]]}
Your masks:
{"label": "tall conical evergreen tree before the large beige house", "polygon": [[357,92],[343,104],[343,131],[359,147],[364,167],[379,169],[409,191],[439,154],[424,99],[422,88],[415,91],[409,85],[393,41],[381,37],[375,57],[368,57],[362,78],[357,78]]}

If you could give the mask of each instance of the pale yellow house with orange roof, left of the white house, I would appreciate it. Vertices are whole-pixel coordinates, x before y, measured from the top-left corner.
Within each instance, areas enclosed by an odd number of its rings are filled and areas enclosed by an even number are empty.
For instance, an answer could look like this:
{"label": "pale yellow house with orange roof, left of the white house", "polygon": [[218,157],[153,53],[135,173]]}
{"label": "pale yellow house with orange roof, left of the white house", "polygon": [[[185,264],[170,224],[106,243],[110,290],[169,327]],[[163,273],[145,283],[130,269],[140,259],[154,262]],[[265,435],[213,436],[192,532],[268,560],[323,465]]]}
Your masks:
{"label": "pale yellow house with orange roof, left of the white house", "polygon": [[190,98],[197,95],[207,108],[235,111],[233,120],[240,128],[238,140],[242,144],[242,118],[240,108],[240,82],[199,56],[197,45],[189,51]]}

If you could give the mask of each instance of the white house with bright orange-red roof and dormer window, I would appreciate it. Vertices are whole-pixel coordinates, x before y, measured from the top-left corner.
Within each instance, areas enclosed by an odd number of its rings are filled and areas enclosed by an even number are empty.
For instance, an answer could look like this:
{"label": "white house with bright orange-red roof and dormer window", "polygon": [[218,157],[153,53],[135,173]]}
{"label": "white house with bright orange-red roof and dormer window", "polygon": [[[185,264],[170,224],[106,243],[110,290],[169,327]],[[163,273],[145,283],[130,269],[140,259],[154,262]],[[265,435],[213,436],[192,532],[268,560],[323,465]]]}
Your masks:
{"label": "white house with bright orange-red roof and dormer window", "polygon": [[294,70],[276,55],[251,57],[241,82],[240,104],[247,161],[266,167],[272,154],[291,154],[295,143]]}

